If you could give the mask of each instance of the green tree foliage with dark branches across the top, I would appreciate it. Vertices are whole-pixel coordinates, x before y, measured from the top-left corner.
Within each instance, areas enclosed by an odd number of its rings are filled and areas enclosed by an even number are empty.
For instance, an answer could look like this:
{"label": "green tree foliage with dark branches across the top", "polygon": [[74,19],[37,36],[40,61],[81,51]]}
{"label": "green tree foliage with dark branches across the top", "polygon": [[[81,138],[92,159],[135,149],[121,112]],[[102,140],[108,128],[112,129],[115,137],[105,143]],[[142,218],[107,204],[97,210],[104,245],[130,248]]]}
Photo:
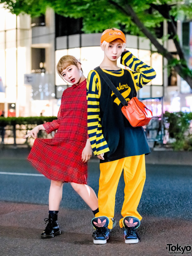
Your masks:
{"label": "green tree foliage with dark branches across the top", "polygon": [[[192,0],[0,0],[16,15],[20,13],[37,17],[50,7],[65,17],[83,18],[83,31],[103,32],[116,27],[132,35],[149,38],[157,52],[167,58],[169,66],[192,88],[192,71],[187,66],[175,22],[192,18]],[[167,20],[180,60],[172,57],[156,36],[156,28]],[[164,38],[162,38],[164,39]]]}

